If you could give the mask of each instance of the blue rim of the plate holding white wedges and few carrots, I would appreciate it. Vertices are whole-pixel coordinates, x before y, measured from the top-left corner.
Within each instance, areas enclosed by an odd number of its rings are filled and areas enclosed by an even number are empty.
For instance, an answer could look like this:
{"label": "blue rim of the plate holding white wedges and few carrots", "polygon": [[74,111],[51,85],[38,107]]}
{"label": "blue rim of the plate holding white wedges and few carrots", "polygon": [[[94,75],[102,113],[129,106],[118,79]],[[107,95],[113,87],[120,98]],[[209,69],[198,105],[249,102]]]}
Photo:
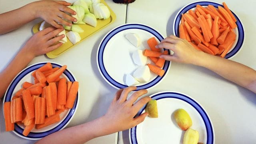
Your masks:
{"label": "blue rim of the plate holding white wedges and few carrots", "polygon": [[[153,28],[143,25],[143,24],[124,24],[122,26],[118,26],[118,27],[114,28],[113,30],[108,32],[108,34],[106,34],[106,36],[104,36],[104,38],[100,42],[100,46],[99,46],[98,52],[97,52],[97,65],[98,65],[98,69],[100,70],[100,74],[102,75],[104,80],[106,80],[106,82],[108,82],[108,84],[112,85],[114,88],[117,88],[117,89],[126,88],[128,86],[117,82],[116,80],[114,80],[114,78],[112,78],[108,74],[108,72],[104,66],[104,62],[103,62],[104,49],[105,49],[106,45],[108,44],[108,41],[115,34],[117,34],[118,32],[122,32],[123,30],[128,30],[128,29],[145,30],[145,31],[153,34],[159,41],[164,39],[164,37],[159,32],[157,32]],[[167,50],[167,49],[164,49],[164,50]],[[168,50],[168,54],[170,54],[170,50]],[[147,84],[136,86],[137,89],[135,91],[152,88],[152,86],[155,86],[156,84],[158,84],[164,78],[166,73],[168,72],[169,67],[170,67],[170,61],[166,60],[164,63],[164,66],[163,66],[163,70],[165,71],[164,75],[162,77],[157,76],[154,80],[148,82]]]}

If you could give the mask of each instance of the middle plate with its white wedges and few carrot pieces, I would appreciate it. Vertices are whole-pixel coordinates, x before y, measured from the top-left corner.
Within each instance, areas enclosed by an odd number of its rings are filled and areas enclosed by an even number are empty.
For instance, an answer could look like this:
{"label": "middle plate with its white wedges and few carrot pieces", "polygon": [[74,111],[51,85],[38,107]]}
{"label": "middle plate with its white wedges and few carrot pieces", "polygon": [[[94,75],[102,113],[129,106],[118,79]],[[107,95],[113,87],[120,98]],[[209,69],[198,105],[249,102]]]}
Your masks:
{"label": "middle plate with its white wedges and few carrot pieces", "polygon": [[[134,36],[132,38],[138,46],[129,42],[127,34]],[[156,86],[164,79],[171,65],[170,61],[159,58],[161,54],[170,54],[170,50],[155,48],[163,39],[154,28],[144,24],[124,24],[114,28],[104,36],[98,47],[100,74],[116,89],[131,85],[137,90]]]}

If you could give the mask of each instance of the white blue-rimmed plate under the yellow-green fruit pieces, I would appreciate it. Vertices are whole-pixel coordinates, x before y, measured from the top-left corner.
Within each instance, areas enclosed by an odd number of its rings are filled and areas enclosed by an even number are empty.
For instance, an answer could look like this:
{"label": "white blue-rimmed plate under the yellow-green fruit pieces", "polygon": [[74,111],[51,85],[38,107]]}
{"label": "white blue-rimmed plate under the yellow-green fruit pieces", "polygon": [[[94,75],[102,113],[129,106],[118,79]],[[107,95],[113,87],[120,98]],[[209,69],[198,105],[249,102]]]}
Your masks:
{"label": "white blue-rimmed plate under the yellow-green fruit pieces", "polygon": [[[158,92],[151,95],[157,100],[158,118],[146,117],[144,122],[129,131],[131,144],[182,144],[184,132],[174,119],[174,112],[183,108],[192,119],[191,128],[199,133],[199,141],[214,144],[214,128],[200,104],[179,92]],[[145,112],[142,108],[137,115]]]}

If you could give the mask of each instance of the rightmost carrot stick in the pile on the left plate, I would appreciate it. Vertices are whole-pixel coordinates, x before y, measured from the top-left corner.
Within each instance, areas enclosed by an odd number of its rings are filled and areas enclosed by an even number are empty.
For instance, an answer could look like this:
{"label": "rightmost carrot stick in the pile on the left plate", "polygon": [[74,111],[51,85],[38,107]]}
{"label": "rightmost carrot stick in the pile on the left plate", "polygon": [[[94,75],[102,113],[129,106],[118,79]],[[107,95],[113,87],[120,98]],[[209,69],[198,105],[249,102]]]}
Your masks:
{"label": "rightmost carrot stick in the pile on the left plate", "polygon": [[76,95],[78,93],[78,82],[75,81],[70,87],[68,92],[68,98],[66,101],[66,108],[73,108],[74,101],[76,100]]}

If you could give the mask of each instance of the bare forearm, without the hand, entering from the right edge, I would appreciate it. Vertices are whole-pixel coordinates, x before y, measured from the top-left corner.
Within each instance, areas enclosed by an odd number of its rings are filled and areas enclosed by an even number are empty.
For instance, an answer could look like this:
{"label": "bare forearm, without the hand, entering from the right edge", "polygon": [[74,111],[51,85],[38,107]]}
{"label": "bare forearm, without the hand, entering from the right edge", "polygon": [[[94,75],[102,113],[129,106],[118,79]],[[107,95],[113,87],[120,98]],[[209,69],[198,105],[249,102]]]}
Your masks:
{"label": "bare forearm, without the hand, entering from the right edge", "polygon": [[200,53],[199,56],[200,58],[194,64],[208,68],[227,80],[256,93],[256,71],[252,68],[232,60],[205,53]]}

